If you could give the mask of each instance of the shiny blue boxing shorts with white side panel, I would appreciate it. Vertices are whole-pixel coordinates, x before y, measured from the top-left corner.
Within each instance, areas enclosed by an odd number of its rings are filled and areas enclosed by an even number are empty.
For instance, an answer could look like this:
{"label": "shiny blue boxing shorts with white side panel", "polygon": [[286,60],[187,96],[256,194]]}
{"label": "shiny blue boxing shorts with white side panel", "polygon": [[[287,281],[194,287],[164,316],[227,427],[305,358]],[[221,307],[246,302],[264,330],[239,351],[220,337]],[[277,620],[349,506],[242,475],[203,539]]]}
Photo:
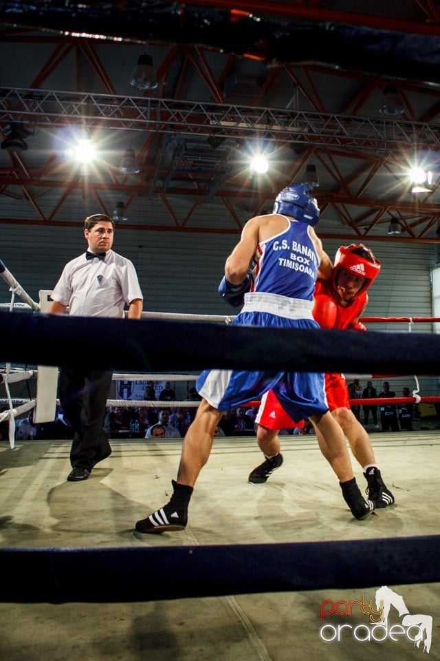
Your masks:
{"label": "shiny blue boxing shorts with white side panel", "polygon": [[[291,319],[267,312],[248,312],[245,308],[232,323],[265,328],[319,328],[313,318]],[[213,369],[204,370],[196,386],[199,395],[220,411],[260,399],[267,390],[274,391],[295,422],[329,410],[323,373]]]}

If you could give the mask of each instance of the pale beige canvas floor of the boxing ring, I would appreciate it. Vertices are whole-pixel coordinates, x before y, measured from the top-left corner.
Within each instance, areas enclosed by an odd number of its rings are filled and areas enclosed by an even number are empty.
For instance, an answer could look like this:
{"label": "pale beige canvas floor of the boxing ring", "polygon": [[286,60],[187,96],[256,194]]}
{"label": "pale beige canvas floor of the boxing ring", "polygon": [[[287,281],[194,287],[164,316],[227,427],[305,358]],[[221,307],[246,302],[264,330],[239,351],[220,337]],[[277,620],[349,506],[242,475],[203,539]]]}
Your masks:
{"label": "pale beige canvas floor of the boxing ring", "polygon": [[[333,541],[437,535],[440,530],[440,431],[371,434],[392,507],[356,521],[316,437],[282,437],[283,466],[263,485],[248,482],[262,455],[255,437],[216,439],[192,496],[184,532],[134,531],[135,521],[168,501],[181,441],[111,441],[111,457],[90,478],[69,483],[70,441],[0,444],[0,547],[177,547]],[[353,460],[362,490],[361,468]],[[362,558],[359,560],[362,563]],[[159,567],[146,567],[154,574]],[[3,576],[16,580],[19,576]],[[94,577],[89,581],[93,585]],[[108,577],[111,582],[111,575]],[[380,586],[377,586],[379,588]],[[440,659],[440,584],[393,586],[410,613],[432,616],[430,659]],[[0,602],[0,656],[8,661],[159,661],[353,659],[406,661],[426,655],[406,636],[358,640],[336,612],[320,620],[323,602],[343,609],[375,588],[228,595],[136,603]],[[356,609],[356,607],[354,607]],[[347,613],[345,613],[347,614]],[[395,625],[399,613],[390,614]],[[335,633],[336,636],[336,633]]]}

